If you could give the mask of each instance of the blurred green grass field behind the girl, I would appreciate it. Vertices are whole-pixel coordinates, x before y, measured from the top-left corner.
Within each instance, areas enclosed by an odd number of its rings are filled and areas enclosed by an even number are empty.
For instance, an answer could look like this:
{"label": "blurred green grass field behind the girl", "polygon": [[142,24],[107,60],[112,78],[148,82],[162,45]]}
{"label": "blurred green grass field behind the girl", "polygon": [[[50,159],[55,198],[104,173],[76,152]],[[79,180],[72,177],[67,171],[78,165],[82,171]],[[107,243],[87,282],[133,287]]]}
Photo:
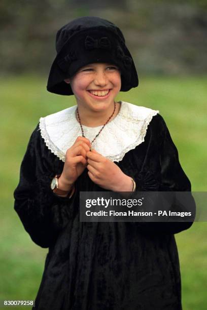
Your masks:
{"label": "blurred green grass field behind the girl", "polygon": [[[1,79],[0,300],[34,300],[44,268],[47,250],[32,243],[24,231],[13,210],[13,191],[29,136],[39,118],[75,104],[73,97],[48,93],[46,80],[31,75]],[[120,93],[117,99],[160,111],[179,149],[192,190],[206,191],[207,78],[141,76],[140,80],[137,89]],[[176,236],[184,310],[206,309],[206,234],[206,223],[194,223]]]}

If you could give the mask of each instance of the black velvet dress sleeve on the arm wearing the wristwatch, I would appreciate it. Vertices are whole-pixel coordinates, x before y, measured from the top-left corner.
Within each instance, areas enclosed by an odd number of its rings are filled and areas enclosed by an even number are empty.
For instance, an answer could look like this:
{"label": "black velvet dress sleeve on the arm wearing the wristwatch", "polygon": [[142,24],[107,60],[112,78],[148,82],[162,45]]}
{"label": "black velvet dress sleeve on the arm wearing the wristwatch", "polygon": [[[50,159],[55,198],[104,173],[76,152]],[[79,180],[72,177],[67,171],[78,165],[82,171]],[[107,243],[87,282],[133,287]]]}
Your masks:
{"label": "black velvet dress sleeve on the arm wearing the wristwatch", "polygon": [[50,188],[52,178],[62,171],[60,164],[47,148],[38,125],[21,163],[14,209],[31,239],[43,248],[55,243],[73,214],[76,192],[71,199],[62,198]]}

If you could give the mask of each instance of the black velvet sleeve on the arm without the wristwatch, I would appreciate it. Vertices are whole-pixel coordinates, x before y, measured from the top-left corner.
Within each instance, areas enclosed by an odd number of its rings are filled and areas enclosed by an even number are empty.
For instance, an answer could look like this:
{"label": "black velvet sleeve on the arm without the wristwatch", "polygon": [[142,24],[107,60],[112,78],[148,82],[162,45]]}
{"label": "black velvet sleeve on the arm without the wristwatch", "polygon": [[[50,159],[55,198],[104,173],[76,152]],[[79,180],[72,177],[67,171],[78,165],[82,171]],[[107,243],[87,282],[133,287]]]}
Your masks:
{"label": "black velvet sleeve on the arm without the wristwatch", "polygon": [[[191,183],[181,167],[178,150],[161,115],[158,114],[154,117],[150,131],[150,140],[153,141],[152,144],[156,144],[158,149],[160,169],[159,173],[157,171],[153,172],[153,161],[146,161],[147,163],[145,163],[142,170],[135,176],[137,191],[185,191],[186,205],[182,205],[182,208],[191,210],[192,214],[195,215],[195,202],[191,194]],[[155,146],[153,146],[153,149],[155,149]],[[180,205],[177,197],[181,196],[175,194],[174,197],[175,199],[172,200],[171,205],[172,211],[175,211]],[[145,222],[139,225],[142,231],[149,234],[177,234],[188,229],[192,224],[193,221],[170,222],[170,218],[168,218],[166,222]]]}

